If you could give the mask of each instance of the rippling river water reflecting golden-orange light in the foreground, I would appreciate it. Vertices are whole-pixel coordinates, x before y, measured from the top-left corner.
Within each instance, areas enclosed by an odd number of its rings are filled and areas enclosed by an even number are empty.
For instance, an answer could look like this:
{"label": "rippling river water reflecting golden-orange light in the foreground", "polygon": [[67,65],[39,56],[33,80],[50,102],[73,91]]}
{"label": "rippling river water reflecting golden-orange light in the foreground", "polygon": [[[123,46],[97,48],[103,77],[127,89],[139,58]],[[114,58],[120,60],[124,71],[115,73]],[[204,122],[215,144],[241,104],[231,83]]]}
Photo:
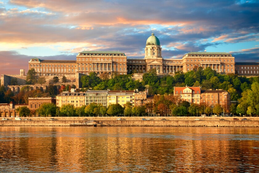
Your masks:
{"label": "rippling river water reflecting golden-orange light in the foreground", "polygon": [[0,171],[259,172],[259,129],[0,127]]}

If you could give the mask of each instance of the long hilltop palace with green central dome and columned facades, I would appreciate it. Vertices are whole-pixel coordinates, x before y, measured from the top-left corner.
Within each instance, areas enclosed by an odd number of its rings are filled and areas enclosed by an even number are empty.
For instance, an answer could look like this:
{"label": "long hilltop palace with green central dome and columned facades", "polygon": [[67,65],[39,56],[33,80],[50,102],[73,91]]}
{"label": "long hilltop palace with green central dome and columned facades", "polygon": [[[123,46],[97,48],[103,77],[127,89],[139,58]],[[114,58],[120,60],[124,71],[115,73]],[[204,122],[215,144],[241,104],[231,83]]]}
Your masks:
{"label": "long hilltop palace with green central dome and columned facades", "polygon": [[146,40],[144,59],[127,58],[119,51],[83,51],[78,53],[76,60],[40,60],[32,58],[29,61],[29,70],[35,69],[38,76],[89,74],[95,72],[100,75],[108,72],[109,75],[120,75],[131,72],[146,73],[155,69],[158,74],[183,73],[195,67],[210,67],[221,74],[259,75],[259,63],[235,62],[231,53],[225,52],[191,52],[182,58],[164,59],[158,37],[152,32]]}

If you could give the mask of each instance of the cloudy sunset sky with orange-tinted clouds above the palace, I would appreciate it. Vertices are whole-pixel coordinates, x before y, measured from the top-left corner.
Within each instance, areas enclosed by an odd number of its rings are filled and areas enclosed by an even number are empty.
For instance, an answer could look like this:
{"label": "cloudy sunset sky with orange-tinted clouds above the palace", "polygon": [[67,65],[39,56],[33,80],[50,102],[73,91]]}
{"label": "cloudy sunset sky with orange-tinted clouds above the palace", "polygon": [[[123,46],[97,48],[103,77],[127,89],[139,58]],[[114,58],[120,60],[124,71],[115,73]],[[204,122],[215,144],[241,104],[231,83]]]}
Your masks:
{"label": "cloudy sunset sky with orange-tinted clouds above the palace", "polygon": [[84,50],[144,58],[152,29],[165,59],[207,51],[259,62],[258,0],[0,0],[0,74]]}

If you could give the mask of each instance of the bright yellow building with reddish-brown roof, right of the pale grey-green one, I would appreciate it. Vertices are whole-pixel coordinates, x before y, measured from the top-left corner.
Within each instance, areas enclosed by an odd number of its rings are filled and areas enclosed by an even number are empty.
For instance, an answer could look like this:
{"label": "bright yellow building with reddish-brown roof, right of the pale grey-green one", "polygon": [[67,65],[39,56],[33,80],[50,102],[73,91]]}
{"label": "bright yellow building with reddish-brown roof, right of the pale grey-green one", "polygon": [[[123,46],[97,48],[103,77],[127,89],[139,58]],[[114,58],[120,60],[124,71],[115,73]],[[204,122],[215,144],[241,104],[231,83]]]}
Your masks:
{"label": "bright yellow building with reddish-brown roof, right of the pale grey-green one", "polygon": [[120,104],[124,106],[125,103],[130,102],[134,106],[134,93],[135,91],[109,91],[107,95],[107,106],[111,104]]}

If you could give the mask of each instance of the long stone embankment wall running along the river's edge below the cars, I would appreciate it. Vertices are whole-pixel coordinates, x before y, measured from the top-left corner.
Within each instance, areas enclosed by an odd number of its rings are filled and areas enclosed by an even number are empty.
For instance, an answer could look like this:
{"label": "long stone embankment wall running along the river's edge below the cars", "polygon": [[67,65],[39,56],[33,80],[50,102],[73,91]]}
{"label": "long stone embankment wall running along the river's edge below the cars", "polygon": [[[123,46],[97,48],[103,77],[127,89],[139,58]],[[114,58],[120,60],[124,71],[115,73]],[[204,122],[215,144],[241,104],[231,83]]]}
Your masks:
{"label": "long stone embankment wall running along the river's edge below the cars", "polygon": [[[50,117],[30,117],[26,120],[0,120],[0,126],[69,126],[81,122],[93,120],[97,126],[147,126],[147,127],[259,127],[258,117],[247,117],[247,121],[233,120],[233,117],[152,117],[151,120],[142,120],[147,117],[121,117],[125,120],[116,120],[117,117],[54,117],[55,121],[48,120]],[[88,120],[83,120],[87,118]],[[167,120],[161,120],[167,118]],[[245,118],[245,117],[242,117]],[[23,119],[23,118],[22,118]],[[229,120],[227,120],[229,119]]]}

